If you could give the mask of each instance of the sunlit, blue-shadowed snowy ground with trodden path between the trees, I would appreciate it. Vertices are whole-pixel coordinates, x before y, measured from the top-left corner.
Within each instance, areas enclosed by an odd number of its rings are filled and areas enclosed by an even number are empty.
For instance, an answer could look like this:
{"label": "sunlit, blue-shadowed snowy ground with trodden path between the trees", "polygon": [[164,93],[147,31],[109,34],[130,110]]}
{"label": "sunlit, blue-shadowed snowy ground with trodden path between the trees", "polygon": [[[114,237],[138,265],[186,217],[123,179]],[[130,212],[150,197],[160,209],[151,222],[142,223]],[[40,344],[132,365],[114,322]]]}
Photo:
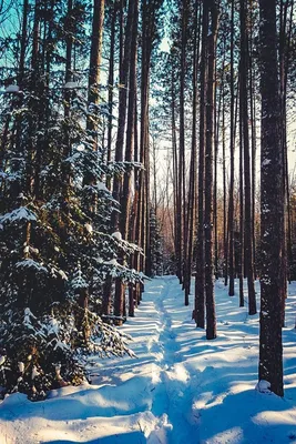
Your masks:
{"label": "sunlit, blue-shadowed snowy ground with trodden path between the trees", "polygon": [[22,394],[0,405],[0,444],[296,443],[296,283],[284,329],[285,397],[255,390],[258,315],[248,316],[216,283],[218,337],[192,321],[176,278],[146,285],[136,317],[122,327],[137,359],[99,361],[92,385]]}

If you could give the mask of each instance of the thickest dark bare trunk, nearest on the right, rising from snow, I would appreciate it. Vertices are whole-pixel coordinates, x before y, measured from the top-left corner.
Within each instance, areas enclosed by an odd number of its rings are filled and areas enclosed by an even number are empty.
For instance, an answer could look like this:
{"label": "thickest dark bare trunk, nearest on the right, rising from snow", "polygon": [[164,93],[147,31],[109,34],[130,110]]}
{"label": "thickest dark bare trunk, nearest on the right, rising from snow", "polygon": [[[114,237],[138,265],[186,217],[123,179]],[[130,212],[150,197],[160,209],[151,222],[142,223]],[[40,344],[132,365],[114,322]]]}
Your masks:
{"label": "thickest dark bare trunk, nearest on the right, rising from snow", "polygon": [[262,175],[261,175],[261,333],[259,380],[271,383],[279,396],[283,387],[283,239],[284,195],[280,137],[280,99],[277,60],[276,0],[259,0]]}

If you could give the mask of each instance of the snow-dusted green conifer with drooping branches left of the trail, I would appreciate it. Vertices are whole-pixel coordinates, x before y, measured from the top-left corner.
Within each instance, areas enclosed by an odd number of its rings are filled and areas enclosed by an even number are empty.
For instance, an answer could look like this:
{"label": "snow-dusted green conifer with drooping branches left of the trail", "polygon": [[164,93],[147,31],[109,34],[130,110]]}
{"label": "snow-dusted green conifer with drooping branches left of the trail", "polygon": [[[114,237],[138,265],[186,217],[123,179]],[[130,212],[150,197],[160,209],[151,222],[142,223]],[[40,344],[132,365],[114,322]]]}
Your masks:
{"label": "snow-dusted green conifer with drooping branches left of the trail", "polygon": [[90,353],[132,353],[101,317],[106,276],[142,275],[116,261],[141,249],[112,232],[120,205],[105,182],[133,164],[104,160],[99,101],[79,69],[89,12],[24,0],[20,63],[1,71],[0,386],[32,400],[80,383]]}

